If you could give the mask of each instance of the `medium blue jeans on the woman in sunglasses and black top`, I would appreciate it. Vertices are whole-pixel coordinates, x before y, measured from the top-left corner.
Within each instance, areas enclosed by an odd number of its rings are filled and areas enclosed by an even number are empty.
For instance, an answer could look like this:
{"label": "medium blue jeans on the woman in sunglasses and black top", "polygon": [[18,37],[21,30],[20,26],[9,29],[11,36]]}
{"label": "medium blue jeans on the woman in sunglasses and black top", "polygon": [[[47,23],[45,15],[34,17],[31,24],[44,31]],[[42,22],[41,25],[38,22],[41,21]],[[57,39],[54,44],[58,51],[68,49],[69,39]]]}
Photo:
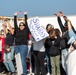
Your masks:
{"label": "medium blue jeans on the woman in sunglasses and black top", "polygon": [[22,68],[23,68],[23,75],[26,75],[27,66],[26,66],[26,56],[28,52],[28,45],[17,45],[15,46],[15,53],[20,53]]}

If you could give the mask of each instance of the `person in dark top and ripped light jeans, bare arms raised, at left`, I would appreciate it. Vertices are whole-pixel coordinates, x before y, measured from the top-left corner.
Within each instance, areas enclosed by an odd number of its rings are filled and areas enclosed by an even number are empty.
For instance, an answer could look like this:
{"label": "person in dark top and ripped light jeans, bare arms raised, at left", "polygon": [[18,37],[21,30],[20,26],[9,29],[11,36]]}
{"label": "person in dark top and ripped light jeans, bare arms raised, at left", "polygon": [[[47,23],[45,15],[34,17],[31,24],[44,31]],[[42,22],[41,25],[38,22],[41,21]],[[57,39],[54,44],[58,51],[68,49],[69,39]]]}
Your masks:
{"label": "person in dark top and ripped light jeans, bare arms raised, at left", "polygon": [[[7,27],[7,24],[8,24],[8,27]],[[14,48],[13,48],[14,29],[12,28],[10,22],[7,21],[7,20],[4,20],[3,28],[4,28],[4,31],[5,31],[5,34],[6,34],[5,44],[4,44],[4,47],[3,47],[3,49],[4,49],[3,63],[8,70],[8,73],[6,75],[10,75],[10,74],[16,75],[15,66],[14,66],[13,61],[12,61],[13,60],[13,55],[14,55],[14,53],[13,53],[13,51],[14,51]],[[9,51],[6,51],[6,48],[5,48],[6,45],[8,45]]]}

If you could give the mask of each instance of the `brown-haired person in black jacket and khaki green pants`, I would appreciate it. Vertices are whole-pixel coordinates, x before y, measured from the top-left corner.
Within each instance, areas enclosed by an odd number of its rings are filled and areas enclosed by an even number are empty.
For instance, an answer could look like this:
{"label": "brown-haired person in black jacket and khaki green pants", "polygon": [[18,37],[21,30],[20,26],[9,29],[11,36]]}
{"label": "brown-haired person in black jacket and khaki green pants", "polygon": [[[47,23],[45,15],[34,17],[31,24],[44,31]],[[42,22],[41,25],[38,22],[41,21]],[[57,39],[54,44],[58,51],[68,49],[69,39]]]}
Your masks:
{"label": "brown-haired person in black jacket and khaki green pants", "polygon": [[52,75],[60,75],[60,41],[59,29],[51,30],[46,45],[50,48],[49,55]]}

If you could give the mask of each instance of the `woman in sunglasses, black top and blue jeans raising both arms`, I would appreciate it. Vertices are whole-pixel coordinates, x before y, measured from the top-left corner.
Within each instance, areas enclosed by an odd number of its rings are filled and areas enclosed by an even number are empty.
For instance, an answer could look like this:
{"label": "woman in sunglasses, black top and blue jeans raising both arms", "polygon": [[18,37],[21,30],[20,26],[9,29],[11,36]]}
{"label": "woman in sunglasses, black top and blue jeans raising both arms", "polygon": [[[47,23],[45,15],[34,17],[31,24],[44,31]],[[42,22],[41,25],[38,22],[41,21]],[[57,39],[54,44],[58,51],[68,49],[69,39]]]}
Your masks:
{"label": "woman in sunglasses, black top and blue jeans raising both arms", "polygon": [[20,22],[19,27],[17,25],[17,12],[14,14],[14,27],[15,27],[15,53],[20,53],[23,75],[26,75],[26,55],[28,52],[28,36],[30,34],[27,25],[27,12],[24,12],[25,23]]}

